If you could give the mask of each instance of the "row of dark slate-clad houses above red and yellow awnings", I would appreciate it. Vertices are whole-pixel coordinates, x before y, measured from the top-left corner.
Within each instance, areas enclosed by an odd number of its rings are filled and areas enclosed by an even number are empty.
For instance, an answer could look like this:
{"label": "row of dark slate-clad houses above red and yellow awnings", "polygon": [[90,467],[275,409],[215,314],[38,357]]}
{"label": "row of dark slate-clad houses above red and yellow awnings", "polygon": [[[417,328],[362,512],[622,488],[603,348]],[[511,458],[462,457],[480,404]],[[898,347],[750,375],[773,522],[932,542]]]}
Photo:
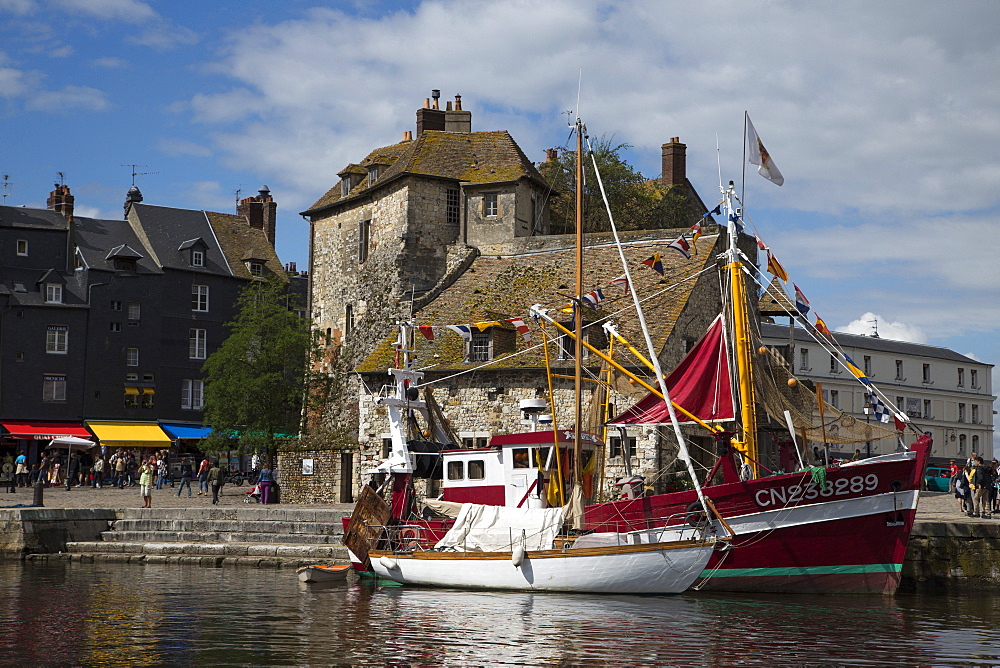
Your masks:
{"label": "row of dark slate-clad houses above red and yellow awnings", "polygon": [[275,208],[266,187],[233,215],[143,204],[133,186],[123,219],[99,220],[74,215],[65,185],[45,210],[0,207],[5,449],[34,461],[51,438],[90,432],[165,447],[160,425],[200,427],[201,367],[243,286],[277,278],[304,296],[274,252]]}

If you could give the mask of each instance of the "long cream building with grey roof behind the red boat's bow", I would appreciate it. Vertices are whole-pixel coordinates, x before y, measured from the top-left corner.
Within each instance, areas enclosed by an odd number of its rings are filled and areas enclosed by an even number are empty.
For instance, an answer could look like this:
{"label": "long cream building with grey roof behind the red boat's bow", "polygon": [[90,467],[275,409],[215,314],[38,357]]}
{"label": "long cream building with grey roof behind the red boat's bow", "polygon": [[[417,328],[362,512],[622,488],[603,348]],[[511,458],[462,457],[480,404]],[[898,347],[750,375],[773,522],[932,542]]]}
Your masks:
{"label": "long cream building with grey roof behind the red boat's bow", "polygon": [[[858,419],[866,414],[865,388],[808,332],[788,325],[762,323],[765,345],[781,350],[799,380],[823,385],[823,398]],[[834,332],[834,338],[854,364],[905,413],[913,424],[934,439],[931,456],[966,458],[992,455],[993,396],[985,364],[947,348],[856,334]],[[788,354],[791,343],[791,353]],[[907,435],[907,445],[914,440]],[[892,452],[893,439],[872,441],[871,454]],[[867,444],[862,444],[862,451]]]}

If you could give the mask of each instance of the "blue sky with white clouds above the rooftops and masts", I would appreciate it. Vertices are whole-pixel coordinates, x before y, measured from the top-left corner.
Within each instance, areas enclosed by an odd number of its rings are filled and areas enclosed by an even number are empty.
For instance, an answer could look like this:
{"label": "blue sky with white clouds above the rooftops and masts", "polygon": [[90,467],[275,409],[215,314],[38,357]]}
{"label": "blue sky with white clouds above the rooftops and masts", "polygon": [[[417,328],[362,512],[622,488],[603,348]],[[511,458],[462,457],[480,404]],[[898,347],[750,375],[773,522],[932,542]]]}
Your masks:
{"label": "blue sky with white clouds above the rooftops and masts", "polygon": [[[706,200],[742,172],[743,112],[785,176],[747,211],[833,329],[1000,362],[1000,3],[0,0],[0,175],[77,212],[234,211],[266,184],[298,216],[432,88],[527,155],[593,135],[660,171],[679,136]],[[716,142],[719,144],[718,155]],[[154,173],[155,172],[155,173]],[[994,378],[997,374],[994,373]],[[996,383],[994,387],[997,387]]]}

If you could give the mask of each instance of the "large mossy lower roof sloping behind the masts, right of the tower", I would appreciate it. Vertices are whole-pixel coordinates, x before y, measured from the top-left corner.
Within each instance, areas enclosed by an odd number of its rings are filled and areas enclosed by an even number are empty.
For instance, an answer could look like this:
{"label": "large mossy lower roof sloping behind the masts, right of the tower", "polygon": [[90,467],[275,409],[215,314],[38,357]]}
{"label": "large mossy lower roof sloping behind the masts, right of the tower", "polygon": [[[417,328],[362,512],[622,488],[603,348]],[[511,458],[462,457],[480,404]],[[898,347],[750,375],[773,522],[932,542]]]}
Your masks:
{"label": "large mossy lower roof sloping behind the masts, right of the tower", "polygon": [[[687,304],[697,281],[682,281],[708,268],[715,271],[715,255],[720,243],[718,234],[705,235],[698,240],[699,254],[690,260],[680,253],[667,248],[683,230],[657,230],[656,239],[650,239],[650,232],[623,234],[625,257],[629,263],[633,280],[640,298],[651,297],[643,303],[650,335],[657,349],[662,348],[674,331],[677,319]],[[466,363],[462,339],[445,329],[447,325],[474,324],[500,320],[501,326],[513,330],[507,318],[520,317],[531,330],[532,344],[542,341],[541,330],[528,315],[532,304],[540,303],[548,307],[565,306],[573,293],[575,282],[573,237],[562,237],[567,246],[554,251],[543,251],[508,257],[479,257],[450,287],[416,314],[417,325],[435,326],[434,341],[429,342],[419,334],[416,338],[418,367],[435,364],[435,371],[465,369],[482,363]],[[612,316],[618,331],[637,348],[644,349],[638,322],[631,310],[631,295],[622,294],[617,287],[611,287],[612,279],[622,274],[618,251],[613,244],[605,242],[607,235],[588,235],[590,247],[584,251],[584,293],[601,288],[605,299],[598,310],[584,309],[584,321],[591,322]],[[722,243],[725,242],[724,237]],[[641,262],[654,252],[662,257],[664,275],[661,277]],[[712,280],[715,280],[712,278]],[[663,290],[673,288],[667,292]],[[624,310],[624,311],[623,311]],[[618,313],[623,311],[622,313]],[[556,315],[556,314],[553,314]],[[559,313],[559,322],[569,322],[570,314]],[[596,327],[600,328],[599,325]],[[550,338],[558,335],[551,325],[546,327]],[[517,334],[516,352],[527,346]],[[395,332],[386,332],[386,338],[376,350],[358,367],[359,372],[376,372],[386,369],[393,360],[392,343]],[[556,348],[550,347],[553,366],[571,367],[572,360],[555,361]],[[597,358],[591,356],[594,363]],[[488,369],[540,368],[544,366],[542,348],[521,355],[505,355],[496,358]]]}

